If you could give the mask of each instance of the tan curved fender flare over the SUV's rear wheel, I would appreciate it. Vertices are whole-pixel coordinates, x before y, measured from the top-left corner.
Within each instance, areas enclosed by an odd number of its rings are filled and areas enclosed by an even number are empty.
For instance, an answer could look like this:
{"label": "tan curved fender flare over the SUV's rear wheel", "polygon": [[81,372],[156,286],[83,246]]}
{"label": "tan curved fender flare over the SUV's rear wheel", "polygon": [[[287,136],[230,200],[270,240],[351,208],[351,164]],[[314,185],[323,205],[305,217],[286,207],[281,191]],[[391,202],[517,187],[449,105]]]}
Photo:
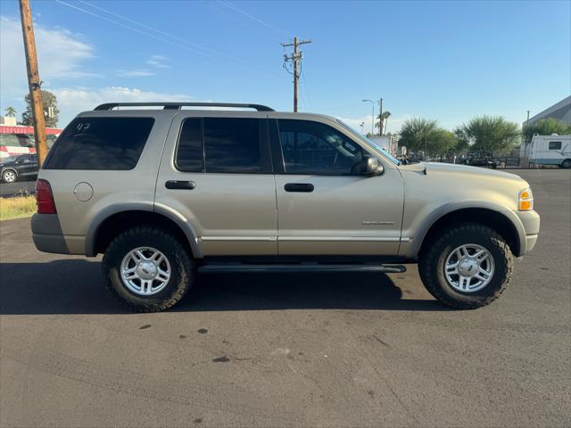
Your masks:
{"label": "tan curved fender flare over the SUV's rear wheel", "polygon": [[193,253],[194,259],[202,259],[203,253],[200,250],[198,245],[198,239],[194,232],[193,226],[186,221],[180,213],[176,210],[171,210],[168,207],[162,205],[155,205],[153,202],[121,202],[109,205],[105,207],[103,210],[99,211],[95,218],[91,221],[89,227],[87,227],[86,233],[86,255],[88,257],[95,256],[95,237],[97,236],[97,232],[99,231],[99,227],[103,224],[103,222],[107,219],[112,217],[115,214],[119,214],[120,212],[125,211],[146,211],[146,212],[154,212],[159,214],[165,218],[169,218],[173,223],[175,223],[185,234],[186,239],[190,245],[190,249]]}

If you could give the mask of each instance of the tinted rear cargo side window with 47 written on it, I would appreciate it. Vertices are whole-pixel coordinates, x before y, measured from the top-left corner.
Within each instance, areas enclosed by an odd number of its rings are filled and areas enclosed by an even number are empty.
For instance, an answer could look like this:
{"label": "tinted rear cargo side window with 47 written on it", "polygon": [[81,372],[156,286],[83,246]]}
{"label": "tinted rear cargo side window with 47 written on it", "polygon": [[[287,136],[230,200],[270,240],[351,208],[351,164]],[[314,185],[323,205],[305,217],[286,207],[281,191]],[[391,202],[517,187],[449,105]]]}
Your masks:
{"label": "tinted rear cargo side window with 47 written on it", "polygon": [[76,118],[50,150],[45,169],[133,169],[153,118]]}

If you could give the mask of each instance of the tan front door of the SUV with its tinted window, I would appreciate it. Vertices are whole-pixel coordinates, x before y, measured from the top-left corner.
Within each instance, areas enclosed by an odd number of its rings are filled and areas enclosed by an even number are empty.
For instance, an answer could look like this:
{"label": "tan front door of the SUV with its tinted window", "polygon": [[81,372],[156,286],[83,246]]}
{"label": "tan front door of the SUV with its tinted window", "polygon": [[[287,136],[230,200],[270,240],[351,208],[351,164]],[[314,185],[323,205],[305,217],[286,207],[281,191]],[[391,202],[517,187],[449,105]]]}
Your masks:
{"label": "tan front door of the SUV with its tinted window", "polygon": [[403,203],[399,170],[377,154],[385,172],[358,175],[354,166],[368,148],[334,124],[277,119],[270,126],[277,126],[272,148],[283,157],[276,175],[278,253],[396,255]]}

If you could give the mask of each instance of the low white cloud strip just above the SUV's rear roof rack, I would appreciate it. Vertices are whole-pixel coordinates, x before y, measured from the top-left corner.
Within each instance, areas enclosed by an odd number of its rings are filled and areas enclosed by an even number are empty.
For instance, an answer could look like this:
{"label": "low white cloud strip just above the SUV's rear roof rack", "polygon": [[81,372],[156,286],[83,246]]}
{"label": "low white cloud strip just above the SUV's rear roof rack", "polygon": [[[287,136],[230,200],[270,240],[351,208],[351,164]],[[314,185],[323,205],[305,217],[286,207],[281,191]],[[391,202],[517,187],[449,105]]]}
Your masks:
{"label": "low white cloud strip just above the SUV's rear roof rack", "polygon": [[100,88],[62,87],[54,89],[60,109],[60,127],[66,126],[79,112],[93,110],[103,103],[145,103],[188,101],[190,96],[144,91],[137,88],[108,86]]}

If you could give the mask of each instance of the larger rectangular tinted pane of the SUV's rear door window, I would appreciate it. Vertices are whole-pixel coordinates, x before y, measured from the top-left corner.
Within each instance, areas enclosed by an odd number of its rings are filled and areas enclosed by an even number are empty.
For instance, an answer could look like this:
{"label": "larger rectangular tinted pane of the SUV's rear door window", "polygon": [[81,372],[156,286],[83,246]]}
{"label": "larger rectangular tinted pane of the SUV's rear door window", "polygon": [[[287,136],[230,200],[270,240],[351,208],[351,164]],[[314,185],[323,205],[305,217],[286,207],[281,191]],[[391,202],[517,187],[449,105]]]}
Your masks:
{"label": "larger rectangular tinted pane of the SUV's rear door window", "polygon": [[262,172],[258,119],[204,118],[206,172]]}

